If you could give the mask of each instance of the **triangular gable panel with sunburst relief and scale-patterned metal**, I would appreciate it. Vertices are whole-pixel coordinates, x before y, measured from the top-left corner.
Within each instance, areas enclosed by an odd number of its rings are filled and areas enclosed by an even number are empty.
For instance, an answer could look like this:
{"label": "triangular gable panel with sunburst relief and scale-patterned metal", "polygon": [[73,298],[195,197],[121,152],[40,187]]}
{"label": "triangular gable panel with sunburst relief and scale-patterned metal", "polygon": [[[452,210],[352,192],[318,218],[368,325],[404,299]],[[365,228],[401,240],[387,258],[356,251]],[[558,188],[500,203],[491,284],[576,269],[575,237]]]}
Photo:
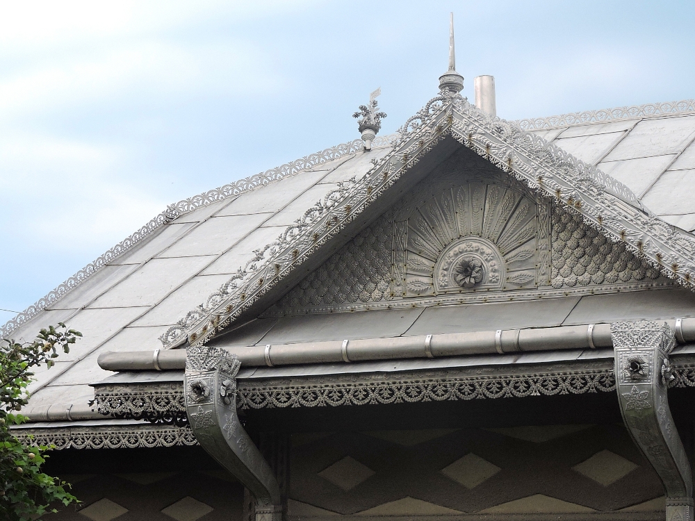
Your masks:
{"label": "triangular gable panel with sunburst relief and scale-patterned metal", "polygon": [[672,285],[623,243],[460,149],[264,316]]}

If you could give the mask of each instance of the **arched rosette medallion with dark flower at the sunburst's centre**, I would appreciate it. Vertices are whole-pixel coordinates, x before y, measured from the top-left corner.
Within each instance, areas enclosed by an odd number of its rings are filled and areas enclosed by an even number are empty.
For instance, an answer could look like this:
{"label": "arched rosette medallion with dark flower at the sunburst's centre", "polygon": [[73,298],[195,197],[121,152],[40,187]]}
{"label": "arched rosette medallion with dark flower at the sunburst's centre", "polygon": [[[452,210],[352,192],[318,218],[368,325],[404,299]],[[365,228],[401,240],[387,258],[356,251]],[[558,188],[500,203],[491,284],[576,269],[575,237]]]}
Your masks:
{"label": "arched rosette medallion with dark flower at the sunburst's centre", "polygon": [[437,293],[501,288],[505,264],[500,251],[489,240],[464,237],[441,252],[434,265]]}

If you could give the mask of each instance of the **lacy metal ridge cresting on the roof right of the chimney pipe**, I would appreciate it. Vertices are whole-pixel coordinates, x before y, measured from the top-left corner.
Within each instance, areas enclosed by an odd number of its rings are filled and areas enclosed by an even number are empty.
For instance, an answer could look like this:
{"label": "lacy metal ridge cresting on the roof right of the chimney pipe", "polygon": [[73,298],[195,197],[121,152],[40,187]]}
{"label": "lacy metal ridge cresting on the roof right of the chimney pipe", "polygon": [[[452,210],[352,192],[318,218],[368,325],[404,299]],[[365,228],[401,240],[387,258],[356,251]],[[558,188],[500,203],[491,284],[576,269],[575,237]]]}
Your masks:
{"label": "lacy metal ridge cresting on the roof right of the chimney pipe", "polygon": [[529,117],[516,119],[514,123],[525,131],[556,129],[562,126],[575,126],[590,123],[605,123],[635,119],[636,117],[656,117],[661,115],[678,115],[695,113],[695,99],[665,101],[598,110],[582,110],[548,117]]}

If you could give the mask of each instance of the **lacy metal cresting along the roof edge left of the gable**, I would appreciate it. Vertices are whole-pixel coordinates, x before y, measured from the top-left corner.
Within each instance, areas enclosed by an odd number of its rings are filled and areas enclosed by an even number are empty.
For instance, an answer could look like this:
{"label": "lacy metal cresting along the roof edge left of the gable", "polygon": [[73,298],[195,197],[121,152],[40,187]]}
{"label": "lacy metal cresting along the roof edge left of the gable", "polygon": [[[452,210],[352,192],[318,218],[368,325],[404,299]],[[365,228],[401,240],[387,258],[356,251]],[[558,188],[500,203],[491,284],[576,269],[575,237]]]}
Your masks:
{"label": "lacy metal cresting along the roof edge left of the gable", "polygon": [[[395,143],[397,139],[398,133],[379,136],[379,138],[375,140],[373,147],[389,147]],[[10,333],[38,315],[38,313],[45,308],[65,297],[68,292],[79,286],[106,264],[115,261],[116,258],[126,251],[129,251],[133,246],[152,235],[152,232],[159,229],[163,224],[172,222],[178,217],[181,217],[181,215],[186,215],[187,213],[193,212],[193,210],[197,210],[197,208],[212,204],[215,201],[222,201],[222,199],[227,199],[227,197],[233,195],[250,192],[261,186],[280,181],[287,176],[299,174],[316,165],[327,163],[329,160],[338,159],[348,154],[354,154],[363,149],[363,145],[364,143],[361,139],[337,144],[334,147],[329,147],[322,151],[290,161],[289,163],[284,163],[284,165],[280,165],[279,167],[270,168],[265,170],[265,172],[254,174],[232,183],[227,183],[213,190],[208,190],[168,205],[166,210],[156,215],[156,217],[147,222],[145,226],[142,226],[138,231],[132,233],[111,249],[106,250],[104,254],[101,254],[94,261],[63,281],[63,283],[60,283],[56,288],[47,293],[47,295],[38,299],[34,304],[24,309],[24,311],[17,313],[13,318],[10,318],[10,320],[0,327],[0,339],[8,337]]]}

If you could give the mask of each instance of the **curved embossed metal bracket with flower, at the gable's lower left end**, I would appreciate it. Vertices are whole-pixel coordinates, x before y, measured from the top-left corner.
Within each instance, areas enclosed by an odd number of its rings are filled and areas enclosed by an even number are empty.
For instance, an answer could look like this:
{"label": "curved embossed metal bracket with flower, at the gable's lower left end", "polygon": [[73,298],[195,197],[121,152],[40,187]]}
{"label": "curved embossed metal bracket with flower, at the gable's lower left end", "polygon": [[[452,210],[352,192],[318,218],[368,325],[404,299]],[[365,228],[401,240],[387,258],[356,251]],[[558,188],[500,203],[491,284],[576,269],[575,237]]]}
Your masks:
{"label": "curved embossed metal bracket with flower, at the gable's lower left end", "polygon": [[240,362],[224,349],[189,347],[183,392],[198,443],[234,474],[256,499],[256,521],[280,521],[280,488],[270,465],[236,413]]}

